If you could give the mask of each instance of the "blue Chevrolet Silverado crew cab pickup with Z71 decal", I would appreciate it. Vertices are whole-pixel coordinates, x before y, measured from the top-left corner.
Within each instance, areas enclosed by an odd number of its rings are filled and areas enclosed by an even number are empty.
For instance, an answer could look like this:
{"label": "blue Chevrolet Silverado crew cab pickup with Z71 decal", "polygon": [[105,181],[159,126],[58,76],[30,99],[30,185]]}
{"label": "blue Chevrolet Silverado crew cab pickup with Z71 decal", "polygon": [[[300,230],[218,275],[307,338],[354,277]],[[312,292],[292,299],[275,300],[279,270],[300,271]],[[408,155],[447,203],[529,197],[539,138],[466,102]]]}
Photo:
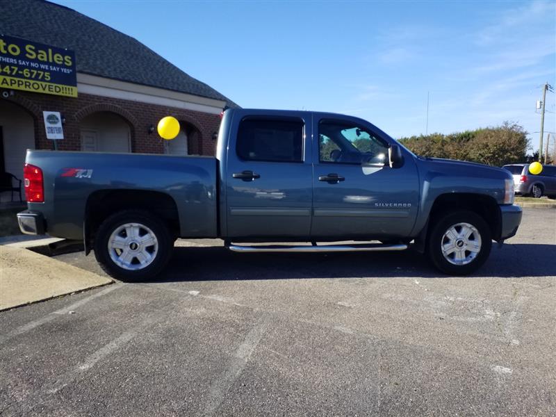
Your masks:
{"label": "blue Chevrolet Silverado crew cab pickup with Z71 decal", "polygon": [[124,280],[161,272],[177,238],[236,252],[413,247],[466,275],[521,222],[507,170],[421,158],[365,120],[311,111],[228,109],[215,157],[28,150],[24,182],[23,233],[82,239]]}

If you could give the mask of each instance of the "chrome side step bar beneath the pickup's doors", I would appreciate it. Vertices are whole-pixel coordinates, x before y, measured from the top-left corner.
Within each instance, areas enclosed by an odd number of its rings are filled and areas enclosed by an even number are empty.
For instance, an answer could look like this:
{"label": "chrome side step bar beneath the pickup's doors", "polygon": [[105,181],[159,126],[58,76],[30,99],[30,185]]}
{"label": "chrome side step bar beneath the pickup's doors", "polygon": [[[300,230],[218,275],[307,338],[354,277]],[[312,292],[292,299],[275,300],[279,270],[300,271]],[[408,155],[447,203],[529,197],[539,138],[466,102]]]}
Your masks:
{"label": "chrome side step bar beneath the pickup's doors", "polygon": [[382,243],[366,243],[353,245],[313,245],[313,246],[242,246],[229,244],[226,247],[232,252],[383,252],[387,250],[406,250],[407,245],[383,245]]}

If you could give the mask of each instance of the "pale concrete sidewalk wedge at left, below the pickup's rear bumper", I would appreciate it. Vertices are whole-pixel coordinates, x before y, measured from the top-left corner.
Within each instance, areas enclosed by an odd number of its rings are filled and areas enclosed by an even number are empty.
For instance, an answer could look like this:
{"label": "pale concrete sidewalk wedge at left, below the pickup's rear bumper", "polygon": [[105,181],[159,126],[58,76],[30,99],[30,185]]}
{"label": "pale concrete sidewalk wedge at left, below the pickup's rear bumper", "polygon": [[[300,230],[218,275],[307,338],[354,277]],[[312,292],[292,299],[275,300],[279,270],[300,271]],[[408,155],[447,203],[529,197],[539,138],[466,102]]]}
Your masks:
{"label": "pale concrete sidewalk wedge at left, below the pickup's rear bumper", "polygon": [[43,256],[28,247],[61,239],[37,236],[0,239],[0,311],[111,284],[112,280]]}

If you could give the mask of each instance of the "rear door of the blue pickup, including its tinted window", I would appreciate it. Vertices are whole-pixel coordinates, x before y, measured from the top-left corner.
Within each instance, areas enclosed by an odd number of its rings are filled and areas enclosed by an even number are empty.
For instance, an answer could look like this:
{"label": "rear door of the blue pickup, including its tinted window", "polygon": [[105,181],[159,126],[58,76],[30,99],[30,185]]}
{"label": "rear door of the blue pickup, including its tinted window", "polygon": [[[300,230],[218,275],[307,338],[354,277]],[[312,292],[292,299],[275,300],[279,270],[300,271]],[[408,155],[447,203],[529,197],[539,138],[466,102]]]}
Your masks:
{"label": "rear door of the blue pickup, including its tinted window", "polygon": [[226,236],[308,238],[311,113],[239,110],[230,131],[236,134],[227,152]]}

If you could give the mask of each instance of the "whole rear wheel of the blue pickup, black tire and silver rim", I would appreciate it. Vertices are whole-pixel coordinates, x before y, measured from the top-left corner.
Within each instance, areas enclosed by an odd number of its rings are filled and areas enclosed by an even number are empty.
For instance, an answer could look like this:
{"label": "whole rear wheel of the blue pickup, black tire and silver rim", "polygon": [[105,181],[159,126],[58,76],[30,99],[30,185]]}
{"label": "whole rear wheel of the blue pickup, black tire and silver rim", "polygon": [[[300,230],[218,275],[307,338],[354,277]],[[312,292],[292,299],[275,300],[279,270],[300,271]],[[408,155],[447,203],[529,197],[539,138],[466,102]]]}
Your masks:
{"label": "whole rear wheel of the blue pickup, black tire and silver rim", "polygon": [[170,261],[172,236],[166,225],[147,211],[124,210],[101,223],[95,258],[111,277],[141,281],[156,277]]}

